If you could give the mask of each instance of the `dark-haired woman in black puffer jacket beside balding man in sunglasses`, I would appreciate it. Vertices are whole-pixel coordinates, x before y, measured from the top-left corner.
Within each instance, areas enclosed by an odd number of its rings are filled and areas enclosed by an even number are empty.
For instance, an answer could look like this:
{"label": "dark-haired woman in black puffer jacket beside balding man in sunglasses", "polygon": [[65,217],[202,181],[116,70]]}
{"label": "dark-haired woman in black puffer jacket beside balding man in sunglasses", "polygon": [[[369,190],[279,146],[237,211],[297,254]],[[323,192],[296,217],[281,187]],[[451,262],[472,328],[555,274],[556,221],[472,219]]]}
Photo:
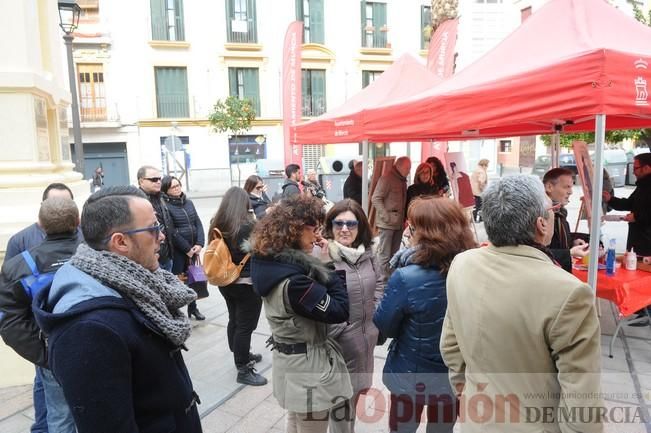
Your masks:
{"label": "dark-haired woman in black puffer jacket beside balding man in sunglasses", "polygon": [[[182,187],[181,181],[174,176],[165,176],[161,181],[161,192],[164,194],[162,197],[174,223],[173,232],[165,234],[171,238],[174,247],[172,256],[174,275],[187,272],[192,260],[199,257],[205,242],[199,214]],[[188,305],[188,317],[192,318],[192,316],[197,320],[206,320],[206,316],[197,308],[197,301],[192,301]]]}

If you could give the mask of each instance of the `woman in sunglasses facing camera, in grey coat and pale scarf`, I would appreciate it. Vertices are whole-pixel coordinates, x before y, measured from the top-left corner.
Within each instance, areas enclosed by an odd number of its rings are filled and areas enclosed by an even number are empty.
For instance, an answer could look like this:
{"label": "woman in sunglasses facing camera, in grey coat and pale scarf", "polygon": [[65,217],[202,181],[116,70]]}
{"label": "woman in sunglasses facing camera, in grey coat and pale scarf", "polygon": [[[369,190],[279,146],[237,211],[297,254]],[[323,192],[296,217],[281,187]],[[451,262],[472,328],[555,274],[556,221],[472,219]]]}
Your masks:
{"label": "woman in sunglasses facing camera, in grey coat and pale scarf", "polygon": [[330,209],[323,236],[328,240],[324,258],[346,273],[350,317],[347,323],[330,325],[328,334],[341,346],[353,385],[351,417],[347,422],[331,422],[330,432],[353,432],[357,399],[373,384],[373,350],[378,340],[373,313],[384,285],[371,250],[373,234],[356,201],[345,199]]}

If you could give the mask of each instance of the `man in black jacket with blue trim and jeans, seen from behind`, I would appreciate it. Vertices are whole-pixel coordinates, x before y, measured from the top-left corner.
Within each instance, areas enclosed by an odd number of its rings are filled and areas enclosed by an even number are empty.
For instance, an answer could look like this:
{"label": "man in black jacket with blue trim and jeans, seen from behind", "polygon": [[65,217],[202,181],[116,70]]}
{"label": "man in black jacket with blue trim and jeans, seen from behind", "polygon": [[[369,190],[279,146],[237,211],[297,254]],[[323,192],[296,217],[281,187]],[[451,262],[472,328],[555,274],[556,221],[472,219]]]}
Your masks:
{"label": "man in black jacket with blue trim and jeans, seen from behind", "polygon": [[[54,273],[75,253],[81,240],[78,236],[79,210],[69,198],[50,198],[41,204],[39,227],[45,232],[42,244],[30,248],[28,256],[19,254],[6,260],[0,274],[0,336],[20,356],[36,364],[42,378],[50,432],[75,432],[75,424],[63,391],[49,370],[45,339],[32,313],[32,298],[37,284],[30,281],[34,272]],[[48,276],[42,277],[42,281]]]}

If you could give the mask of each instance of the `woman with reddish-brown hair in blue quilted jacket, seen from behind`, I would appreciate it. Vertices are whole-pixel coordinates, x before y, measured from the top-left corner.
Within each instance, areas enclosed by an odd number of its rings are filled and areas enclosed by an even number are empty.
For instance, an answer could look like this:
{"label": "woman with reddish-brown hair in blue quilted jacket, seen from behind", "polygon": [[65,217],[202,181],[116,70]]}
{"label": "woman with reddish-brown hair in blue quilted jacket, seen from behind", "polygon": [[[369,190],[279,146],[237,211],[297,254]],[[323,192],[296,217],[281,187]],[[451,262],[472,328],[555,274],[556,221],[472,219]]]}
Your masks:
{"label": "woman with reddish-brown hair in blue quilted jacket, seen from behind", "polygon": [[426,431],[452,432],[456,400],[439,350],[445,278],[454,257],[474,248],[475,240],[468,217],[452,200],[419,197],[407,215],[411,247],[391,260],[397,269],[373,317],[380,332],[393,338],[382,375],[391,393],[389,429],[415,432],[428,396],[434,396],[439,404],[427,409]]}

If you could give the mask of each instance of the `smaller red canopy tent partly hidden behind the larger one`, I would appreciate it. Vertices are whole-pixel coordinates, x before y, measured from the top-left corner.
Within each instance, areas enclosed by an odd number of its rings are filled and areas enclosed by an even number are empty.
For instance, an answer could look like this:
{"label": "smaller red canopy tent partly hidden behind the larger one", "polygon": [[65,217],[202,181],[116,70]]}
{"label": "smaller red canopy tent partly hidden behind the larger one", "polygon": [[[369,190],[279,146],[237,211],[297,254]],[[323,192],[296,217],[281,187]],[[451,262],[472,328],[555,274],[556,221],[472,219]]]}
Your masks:
{"label": "smaller red canopy tent partly hidden behind the larger one", "polygon": [[355,143],[365,140],[362,112],[418,94],[440,83],[433,72],[410,54],[402,55],[375,81],[341,107],[295,127],[294,144]]}

